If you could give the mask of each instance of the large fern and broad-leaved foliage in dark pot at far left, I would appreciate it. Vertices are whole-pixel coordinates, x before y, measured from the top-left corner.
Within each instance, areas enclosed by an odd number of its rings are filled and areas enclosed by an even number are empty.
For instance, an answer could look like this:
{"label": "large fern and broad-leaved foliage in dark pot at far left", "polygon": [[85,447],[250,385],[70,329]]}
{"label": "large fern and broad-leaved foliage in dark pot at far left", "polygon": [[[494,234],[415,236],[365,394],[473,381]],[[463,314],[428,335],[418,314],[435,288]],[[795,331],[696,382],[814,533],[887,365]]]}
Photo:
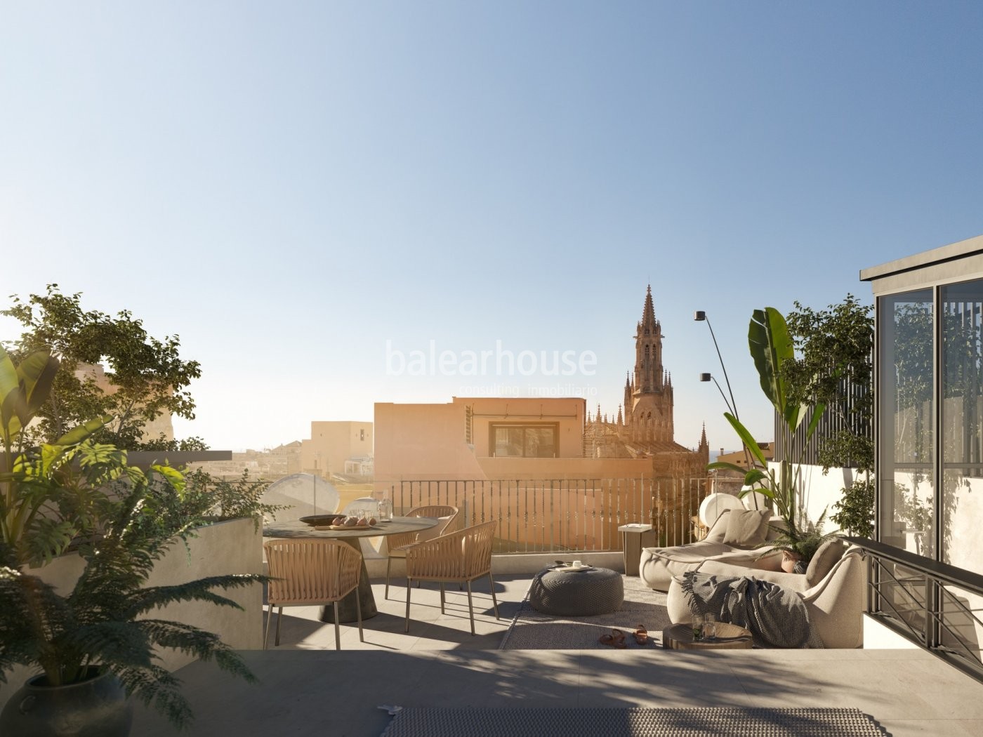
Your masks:
{"label": "large fern and broad-leaved foliage in dark pot at far left", "polygon": [[[50,392],[56,359],[37,352],[15,367],[0,348],[0,680],[14,665],[42,673],[0,714],[0,733],[129,734],[129,697],[153,704],[177,726],[191,720],[179,680],[157,664],[174,648],[248,680],[241,658],[215,635],[154,619],[174,601],[238,604],[216,590],[250,586],[257,575],[218,576],[145,587],[154,563],[194,535],[197,516],[180,503],[182,475],[166,465],[130,466],[126,451],[92,441],[108,418],[53,443],[24,447],[24,428]],[[67,593],[32,571],[69,547],[83,563]]]}

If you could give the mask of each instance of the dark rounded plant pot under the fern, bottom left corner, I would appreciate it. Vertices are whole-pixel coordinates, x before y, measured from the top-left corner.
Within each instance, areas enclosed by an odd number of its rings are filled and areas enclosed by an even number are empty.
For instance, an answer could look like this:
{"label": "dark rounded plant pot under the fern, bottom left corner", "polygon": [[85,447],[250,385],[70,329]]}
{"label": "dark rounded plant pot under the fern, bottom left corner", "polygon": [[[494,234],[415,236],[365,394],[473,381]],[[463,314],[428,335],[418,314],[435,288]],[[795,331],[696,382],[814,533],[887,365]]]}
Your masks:
{"label": "dark rounded plant pot under the fern, bottom left corner", "polygon": [[128,737],[133,705],[119,679],[89,666],[87,680],[47,686],[31,678],[0,713],[0,734],[18,737]]}

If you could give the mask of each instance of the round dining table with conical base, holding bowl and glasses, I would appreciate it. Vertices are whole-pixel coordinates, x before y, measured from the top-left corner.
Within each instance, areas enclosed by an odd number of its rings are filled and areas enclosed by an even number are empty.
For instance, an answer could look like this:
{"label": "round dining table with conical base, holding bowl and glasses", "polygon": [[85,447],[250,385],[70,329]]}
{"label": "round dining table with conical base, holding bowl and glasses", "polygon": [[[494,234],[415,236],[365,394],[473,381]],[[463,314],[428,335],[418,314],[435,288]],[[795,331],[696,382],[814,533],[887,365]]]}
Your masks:
{"label": "round dining table with conical base, holding bowl and glasses", "polygon": [[[397,533],[422,532],[435,527],[438,520],[434,517],[393,517],[390,522],[379,522],[370,528],[359,528],[357,530],[330,530],[328,528],[314,528],[300,520],[292,522],[271,522],[262,527],[262,537],[270,539],[296,539],[296,538],[331,538],[340,539],[348,543],[359,554],[362,554],[362,544],[360,538],[383,538]],[[362,558],[362,575],[359,578],[359,586],[351,594],[346,595],[338,602],[338,621],[355,622],[358,620],[358,609],[356,608],[356,596],[362,605],[362,619],[370,619],[378,614],[376,609],[376,597],[372,593],[372,584],[369,581],[369,571],[366,568],[365,556]],[[320,610],[321,622],[334,622],[334,607],[323,606]]]}

